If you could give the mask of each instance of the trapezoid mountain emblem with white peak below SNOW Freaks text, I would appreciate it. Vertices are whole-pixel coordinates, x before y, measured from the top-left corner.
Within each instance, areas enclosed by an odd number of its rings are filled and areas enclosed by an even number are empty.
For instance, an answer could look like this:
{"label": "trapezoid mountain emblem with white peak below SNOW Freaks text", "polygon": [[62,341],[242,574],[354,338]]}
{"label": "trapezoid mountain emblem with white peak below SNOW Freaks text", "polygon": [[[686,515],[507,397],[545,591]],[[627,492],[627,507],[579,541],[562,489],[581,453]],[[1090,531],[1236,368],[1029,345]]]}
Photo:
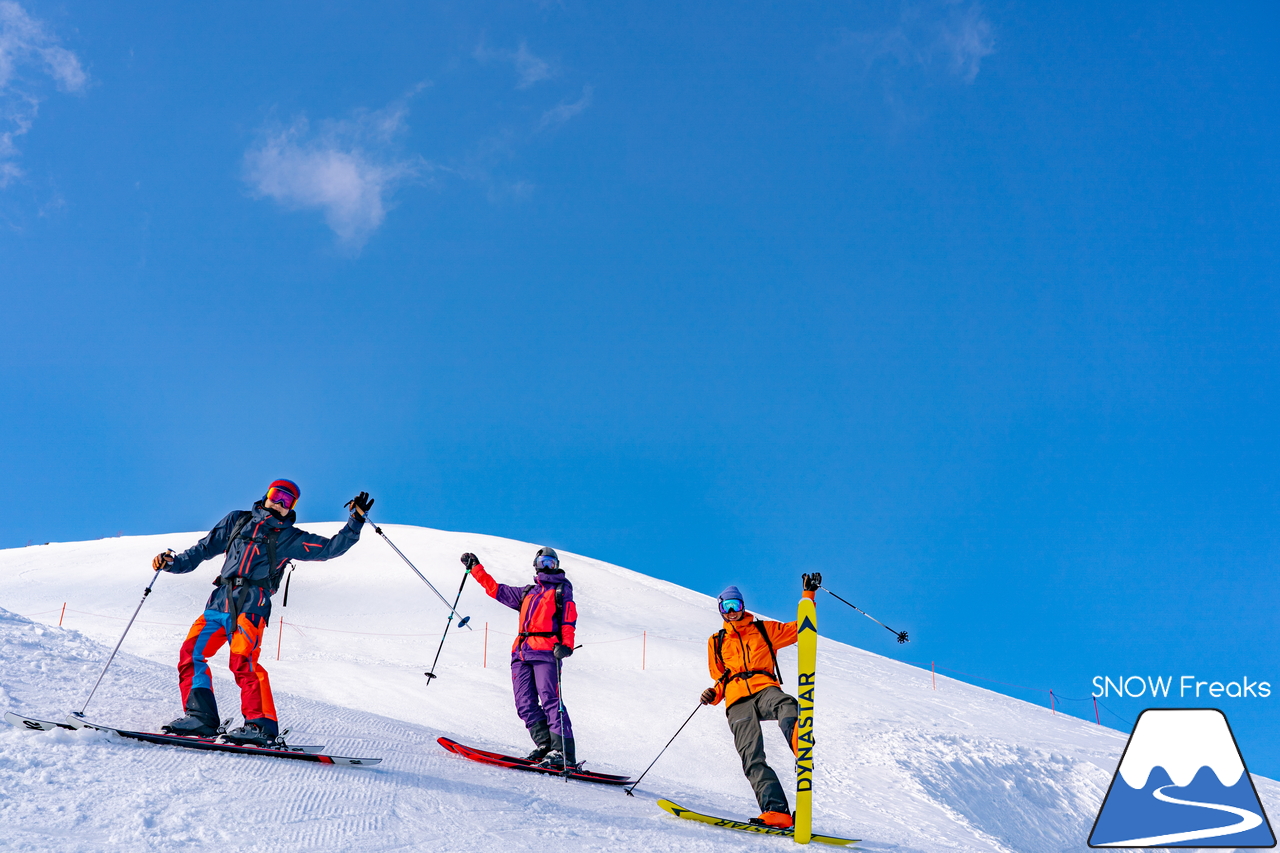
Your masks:
{"label": "trapezoid mountain emblem with white peak below SNOW Freaks text", "polygon": [[1089,847],[1275,847],[1217,708],[1156,708],[1134,724]]}

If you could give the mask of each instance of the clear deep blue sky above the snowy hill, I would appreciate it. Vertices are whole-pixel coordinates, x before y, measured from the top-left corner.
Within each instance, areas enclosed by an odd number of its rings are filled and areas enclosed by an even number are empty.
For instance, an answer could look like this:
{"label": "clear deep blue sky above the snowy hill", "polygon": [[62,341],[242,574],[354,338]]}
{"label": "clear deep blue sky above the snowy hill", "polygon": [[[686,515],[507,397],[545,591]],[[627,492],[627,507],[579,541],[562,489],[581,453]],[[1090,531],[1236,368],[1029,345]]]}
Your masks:
{"label": "clear deep blue sky above the snowy hill", "polygon": [[0,3],[0,547],[289,476],[820,570],[913,643],[831,635],[1080,716],[1271,681],[1208,704],[1275,777],[1277,17]]}

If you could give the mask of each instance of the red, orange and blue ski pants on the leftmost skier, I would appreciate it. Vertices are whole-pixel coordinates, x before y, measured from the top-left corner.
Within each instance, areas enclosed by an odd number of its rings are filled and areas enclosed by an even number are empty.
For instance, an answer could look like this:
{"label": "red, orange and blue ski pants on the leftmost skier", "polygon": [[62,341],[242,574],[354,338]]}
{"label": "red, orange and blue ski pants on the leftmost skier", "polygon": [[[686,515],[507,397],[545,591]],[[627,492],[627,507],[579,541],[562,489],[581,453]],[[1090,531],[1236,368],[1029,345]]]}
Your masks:
{"label": "red, orange and blue ski pants on the leftmost skier", "polygon": [[[212,692],[214,680],[209,672],[209,658],[227,644],[228,628],[230,628],[230,613],[219,610],[206,610],[191,625],[178,656],[178,684],[182,689],[183,707],[187,706],[187,694],[193,688]],[[241,713],[246,720],[276,719],[271,681],[266,670],[257,662],[265,630],[265,617],[257,613],[241,613],[232,634],[230,670],[241,689]]]}

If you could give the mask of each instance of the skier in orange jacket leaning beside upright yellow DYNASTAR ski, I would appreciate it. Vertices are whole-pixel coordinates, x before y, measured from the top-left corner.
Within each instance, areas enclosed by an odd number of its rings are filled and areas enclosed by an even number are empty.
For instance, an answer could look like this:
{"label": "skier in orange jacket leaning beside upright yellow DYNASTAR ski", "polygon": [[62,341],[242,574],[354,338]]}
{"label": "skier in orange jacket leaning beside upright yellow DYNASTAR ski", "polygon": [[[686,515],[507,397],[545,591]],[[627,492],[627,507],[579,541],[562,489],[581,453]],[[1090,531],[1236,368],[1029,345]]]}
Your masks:
{"label": "skier in orange jacket leaning beside upright yellow DYNASTAR ski", "polygon": [[[813,601],[822,585],[822,575],[803,575],[804,597]],[[796,642],[795,622],[756,619],[745,608],[742,593],[730,587],[719,594],[719,612],[724,628],[707,639],[707,669],[716,684],[703,690],[703,704],[726,703],[724,716],[733,733],[733,745],[742,758],[760,816],[753,824],[788,829],[791,807],[778,775],[764,758],[764,735],[760,720],[777,720],[782,736],[799,754],[800,734],[796,720],[800,706],[795,697],[782,692],[777,651]]]}

